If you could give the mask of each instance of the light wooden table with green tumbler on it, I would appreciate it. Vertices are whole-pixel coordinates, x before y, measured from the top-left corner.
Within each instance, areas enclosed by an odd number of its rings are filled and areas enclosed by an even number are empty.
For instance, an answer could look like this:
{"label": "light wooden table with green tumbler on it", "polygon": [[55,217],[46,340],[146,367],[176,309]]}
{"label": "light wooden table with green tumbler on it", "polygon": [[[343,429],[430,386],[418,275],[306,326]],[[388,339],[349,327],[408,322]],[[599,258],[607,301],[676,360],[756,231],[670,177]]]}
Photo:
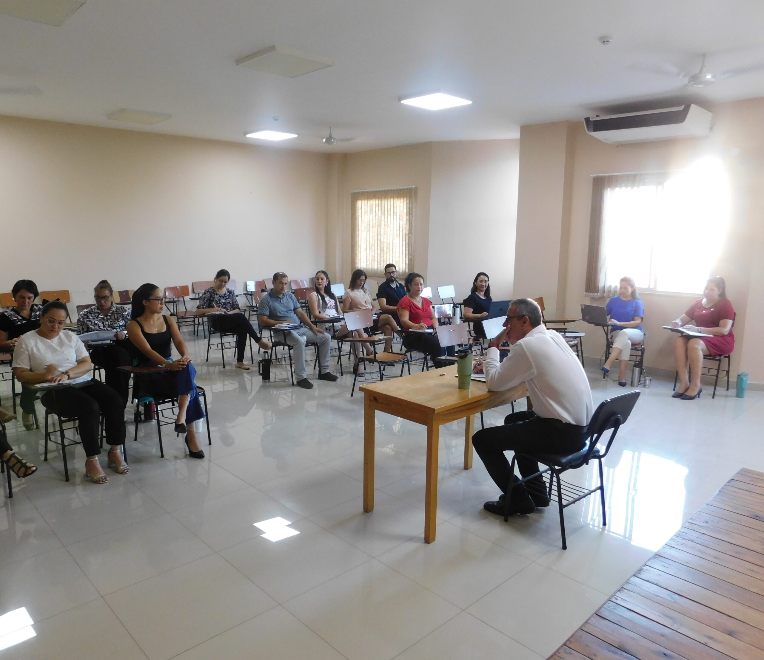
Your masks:
{"label": "light wooden table with green tumbler on it", "polygon": [[472,467],[474,415],[527,396],[524,383],[489,392],[483,382],[472,381],[460,390],[456,366],[362,385],[364,393],[364,511],[374,510],[374,411],[403,417],[427,427],[427,478],[425,488],[425,541],[435,540],[438,510],[438,441],[440,425],[465,418],[465,470]]}

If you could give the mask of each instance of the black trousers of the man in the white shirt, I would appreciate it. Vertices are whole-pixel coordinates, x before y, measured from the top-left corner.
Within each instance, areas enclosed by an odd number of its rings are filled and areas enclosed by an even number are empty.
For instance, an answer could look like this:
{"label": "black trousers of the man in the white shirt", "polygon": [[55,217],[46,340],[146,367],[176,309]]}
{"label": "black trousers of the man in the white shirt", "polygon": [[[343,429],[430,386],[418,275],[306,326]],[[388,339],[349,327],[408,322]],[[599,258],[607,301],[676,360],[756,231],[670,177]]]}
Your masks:
{"label": "black trousers of the man in the white shirt", "polygon": [[[504,452],[536,452],[549,454],[572,453],[586,443],[586,428],[548,417],[539,417],[533,410],[520,410],[504,418],[501,427],[490,427],[472,436],[472,446],[501,492],[510,484],[510,462]],[[517,467],[523,478],[539,472],[539,464],[527,456],[517,457]],[[539,491],[543,481],[538,477],[528,482]],[[528,497],[525,486],[512,488],[512,500]]]}

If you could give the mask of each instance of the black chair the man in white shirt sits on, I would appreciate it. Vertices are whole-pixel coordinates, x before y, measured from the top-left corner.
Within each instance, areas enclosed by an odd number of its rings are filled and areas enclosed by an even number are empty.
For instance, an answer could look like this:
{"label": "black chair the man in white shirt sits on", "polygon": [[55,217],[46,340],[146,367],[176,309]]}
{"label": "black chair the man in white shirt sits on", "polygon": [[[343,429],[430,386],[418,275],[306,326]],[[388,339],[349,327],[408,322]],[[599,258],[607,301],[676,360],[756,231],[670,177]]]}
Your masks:
{"label": "black chair the man in white shirt sits on", "polygon": [[[586,444],[583,449],[579,449],[578,452],[571,454],[542,454],[542,453],[520,453],[520,456],[526,456],[529,459],[533,459],[546,468],[539,470],[534,475],[524,477],[520,481],[514,481],[510,479],[510,484],[507,486],[507,495],[504,497],[504,521],[509,520],[510,499],[513,486],[525,484],[527,481],[536,477],[541,477],[549,473],[549,487],[546,493],[550,500],[557,502],[557,507],[560,514],[560,534],[562,536],[562,549],[568,548],[568,543],[565,540],[565,515],[563,510],[565,507],[569,507],[571,504],[583,500],[584,497],[588,497],[591,494],[600,491],[601,504],[602,504],[602,526],[607,525],[607,517],[605,516],[605,482],[602,473],[602,459],[607,456],[607,452],[610,451],[610,446],[613,444],[613,439],[618,433],[618,429],[626,423],[629,419],[629,415],[636,404],[636,400],[639,398],[639,390],[633,390],[626,392],[626,394],[620,394],[612,399],[605,399],[597,410],[594,410],[594,414],[591,416],[591,421],[588,425]],[[610,437],[607,439],[607,445],[604,449],[600,449],[597,446],[604,433],[608,430],[612,430]],[[518,454],[512,457],[512,466],[510,468],[511,473],[514,475],[515,462]],[[587,490],[581,488],[581,486],[568,484],[565,481],[561,481],[560,475],[568,470],[575,470],[588,465],[592,459],[597,461],[597,466],[600,471],[600,485],[597,488]],[[555,484],[556,482],[556,484]],[[556,485],[556,498],[552,494],[552,487]]]}

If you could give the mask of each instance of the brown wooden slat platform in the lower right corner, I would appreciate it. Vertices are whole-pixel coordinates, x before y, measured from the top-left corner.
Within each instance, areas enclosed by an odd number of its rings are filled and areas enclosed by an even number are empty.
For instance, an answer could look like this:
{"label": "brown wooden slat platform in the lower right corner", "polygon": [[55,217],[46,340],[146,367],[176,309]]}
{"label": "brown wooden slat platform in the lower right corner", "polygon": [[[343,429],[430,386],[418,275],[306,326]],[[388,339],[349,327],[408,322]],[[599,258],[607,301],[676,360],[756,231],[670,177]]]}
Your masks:
{"label": "brown wooden slat platform in the lower right corner", "polygon": [[740,470],[552,660],[764,660],[764,473]]}

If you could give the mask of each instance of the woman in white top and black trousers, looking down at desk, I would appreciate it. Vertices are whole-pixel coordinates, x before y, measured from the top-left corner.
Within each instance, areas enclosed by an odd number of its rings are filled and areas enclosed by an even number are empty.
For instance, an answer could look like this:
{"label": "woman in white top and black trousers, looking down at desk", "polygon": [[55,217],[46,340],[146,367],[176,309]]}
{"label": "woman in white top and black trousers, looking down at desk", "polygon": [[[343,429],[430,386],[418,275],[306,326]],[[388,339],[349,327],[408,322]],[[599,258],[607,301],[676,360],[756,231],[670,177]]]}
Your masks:
{"label": "woman in white top and black trousers, looking down at desk", "polygon": [[[40,317],[40,328],[24,334],[16,344],[13,353],[14,373],[27,386],[40,383],[84,383],[77,388],[44,391],[41,401],[48,410],[62,417],[78,418],[79,439],[82,440],[87,456],[86,478],[94,484],[105,484],[108,477],[98,458],[101,453],[101,415],[104,418],[106,442],[110,446],[108,467],[119,475],[130,472],[122,455],[122,446],[125,444],[125,401],[115,390],[91,378],[92,362],[87,349],[76,334],[63,330],[65,324],[66,305],[59,301],[47,303]],[[21,463],[23,465],[24,462]],[[16,472],[12,465],[9,466]]]}

